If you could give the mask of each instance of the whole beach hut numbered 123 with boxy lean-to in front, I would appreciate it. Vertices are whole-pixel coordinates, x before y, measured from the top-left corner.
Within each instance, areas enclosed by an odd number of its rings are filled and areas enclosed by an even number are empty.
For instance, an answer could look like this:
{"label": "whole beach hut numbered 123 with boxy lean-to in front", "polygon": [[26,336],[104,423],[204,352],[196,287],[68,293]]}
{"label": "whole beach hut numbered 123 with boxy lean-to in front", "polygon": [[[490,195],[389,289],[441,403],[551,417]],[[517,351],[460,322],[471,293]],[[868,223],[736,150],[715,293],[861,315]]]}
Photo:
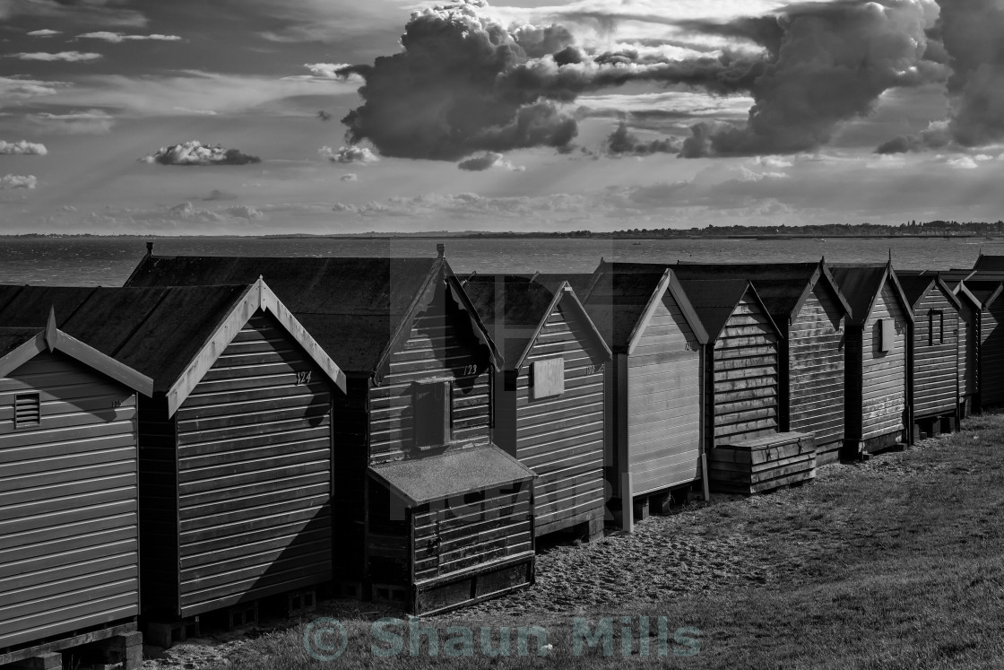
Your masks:
{"label": "whole beach hut numbered 123 with boxy lean-to in front", "polygon": [[346,375],[332,504],[342,593],[442,612],[531,584],[533,471],[491,441],[501,357],[444,257],[154,256],[132,285],[263,274]]}

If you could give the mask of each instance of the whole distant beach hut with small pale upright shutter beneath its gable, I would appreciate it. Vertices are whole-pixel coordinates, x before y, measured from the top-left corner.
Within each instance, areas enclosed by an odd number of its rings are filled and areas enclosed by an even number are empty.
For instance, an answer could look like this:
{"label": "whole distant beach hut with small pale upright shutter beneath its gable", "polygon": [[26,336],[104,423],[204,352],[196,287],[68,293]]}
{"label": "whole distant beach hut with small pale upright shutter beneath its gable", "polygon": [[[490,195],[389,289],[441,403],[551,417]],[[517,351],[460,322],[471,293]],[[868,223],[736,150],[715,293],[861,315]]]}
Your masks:
{"label": "whole distant beach hut with small pale upright shutter beneath its gable", "polygon": [[857,457],[910,440],[907,343],[913,309],[886,265],[834,264],[851,309],[845,334],[845,454]]}

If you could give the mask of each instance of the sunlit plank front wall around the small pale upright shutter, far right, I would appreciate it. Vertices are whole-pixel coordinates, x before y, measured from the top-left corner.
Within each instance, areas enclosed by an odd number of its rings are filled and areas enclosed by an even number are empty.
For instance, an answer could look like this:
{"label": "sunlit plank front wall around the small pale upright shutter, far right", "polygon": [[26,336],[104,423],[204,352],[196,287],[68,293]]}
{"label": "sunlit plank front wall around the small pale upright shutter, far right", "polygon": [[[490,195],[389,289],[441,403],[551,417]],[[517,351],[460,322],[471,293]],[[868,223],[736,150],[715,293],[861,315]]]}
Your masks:
{"label": "sunlit plank front wall around the small pale upright shutter, far right", "polygon": [[[890,352],[882,352],[880,319],[893,319]],[[861,351],[861,439],[903,429],[907,399],[907,317],[889,282],[864,322]]]}

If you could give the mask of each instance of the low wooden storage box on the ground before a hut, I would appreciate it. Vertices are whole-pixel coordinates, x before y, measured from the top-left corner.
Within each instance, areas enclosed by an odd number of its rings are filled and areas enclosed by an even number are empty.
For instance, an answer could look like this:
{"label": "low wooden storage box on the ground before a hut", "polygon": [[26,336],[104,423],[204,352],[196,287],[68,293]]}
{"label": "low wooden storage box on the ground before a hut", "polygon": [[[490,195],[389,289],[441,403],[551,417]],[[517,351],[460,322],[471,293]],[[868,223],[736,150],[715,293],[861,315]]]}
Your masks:
{"label": "low wooden storage box on the ground before a hut", "polygon": [[718,493],[750,495],[815,478],[811,433],[731,440],[708,452],[708,479]]}

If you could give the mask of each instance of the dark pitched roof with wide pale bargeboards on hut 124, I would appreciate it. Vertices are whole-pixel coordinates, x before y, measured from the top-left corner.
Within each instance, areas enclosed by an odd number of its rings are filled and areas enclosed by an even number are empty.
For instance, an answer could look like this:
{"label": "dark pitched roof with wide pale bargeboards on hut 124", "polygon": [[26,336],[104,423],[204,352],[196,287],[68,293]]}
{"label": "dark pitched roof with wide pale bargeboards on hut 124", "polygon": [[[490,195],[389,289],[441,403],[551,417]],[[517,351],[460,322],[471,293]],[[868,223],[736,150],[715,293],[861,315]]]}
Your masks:
{"label": "dark pitched roof with wide pale bargeboards on hut 124", "polygon": [[52,297],[64,305],[75,304],[72,311],[55,312],[59,329],[153,380],[153,391],[168,398],[170,415],[258,309],[275,316],[321,371],[345,390],[344,374],[261,279],[246,286],[55,288],[19,286],[16,293],[7,291],[0,324],[37,324],[40,305]]}

